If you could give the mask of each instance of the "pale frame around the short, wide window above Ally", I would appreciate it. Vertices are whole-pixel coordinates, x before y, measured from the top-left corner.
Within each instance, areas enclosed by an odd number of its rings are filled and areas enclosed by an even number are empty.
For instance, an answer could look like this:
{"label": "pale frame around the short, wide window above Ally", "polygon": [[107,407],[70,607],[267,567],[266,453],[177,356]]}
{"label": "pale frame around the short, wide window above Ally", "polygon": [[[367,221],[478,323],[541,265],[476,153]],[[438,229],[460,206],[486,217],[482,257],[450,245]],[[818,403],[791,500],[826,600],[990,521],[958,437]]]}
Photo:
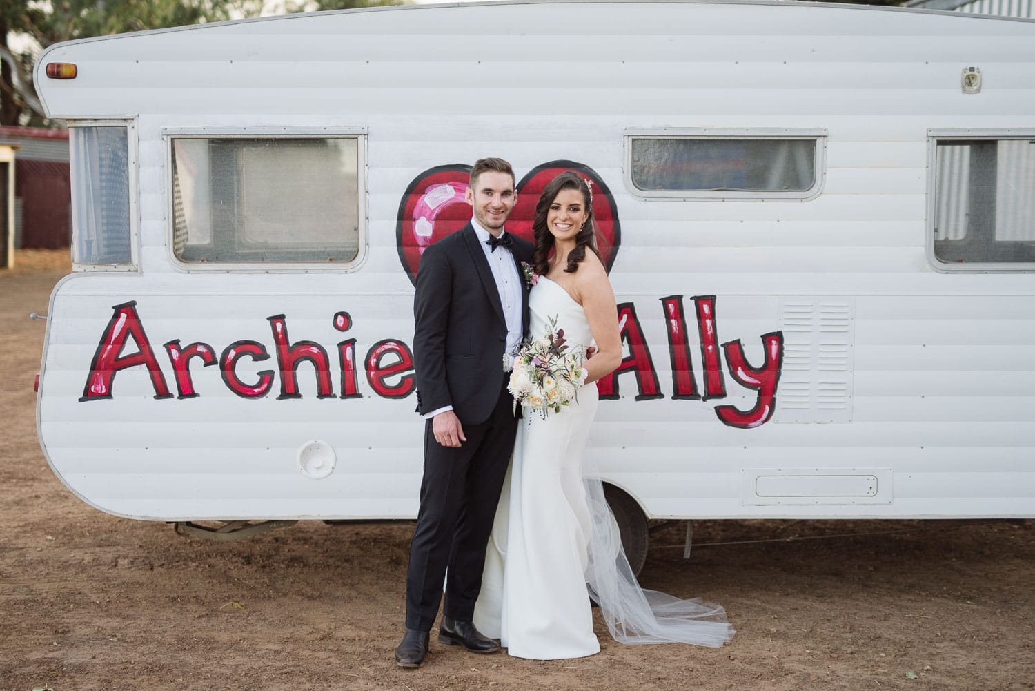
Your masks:
{"label": "pale frame around the short, wide window above Ally", "polygon": [[[827,179],[827,137],[825,127],[650,127],[627,128],[623,137],[623,175],[625,189],[633,197],[667,201],[758,201],[807,202],[823,193]],[[632,181],[632,141],[635,139],[715,139],[715,140],[814,140],[816,142],[816,179],[808,190],[641,190]]]}

